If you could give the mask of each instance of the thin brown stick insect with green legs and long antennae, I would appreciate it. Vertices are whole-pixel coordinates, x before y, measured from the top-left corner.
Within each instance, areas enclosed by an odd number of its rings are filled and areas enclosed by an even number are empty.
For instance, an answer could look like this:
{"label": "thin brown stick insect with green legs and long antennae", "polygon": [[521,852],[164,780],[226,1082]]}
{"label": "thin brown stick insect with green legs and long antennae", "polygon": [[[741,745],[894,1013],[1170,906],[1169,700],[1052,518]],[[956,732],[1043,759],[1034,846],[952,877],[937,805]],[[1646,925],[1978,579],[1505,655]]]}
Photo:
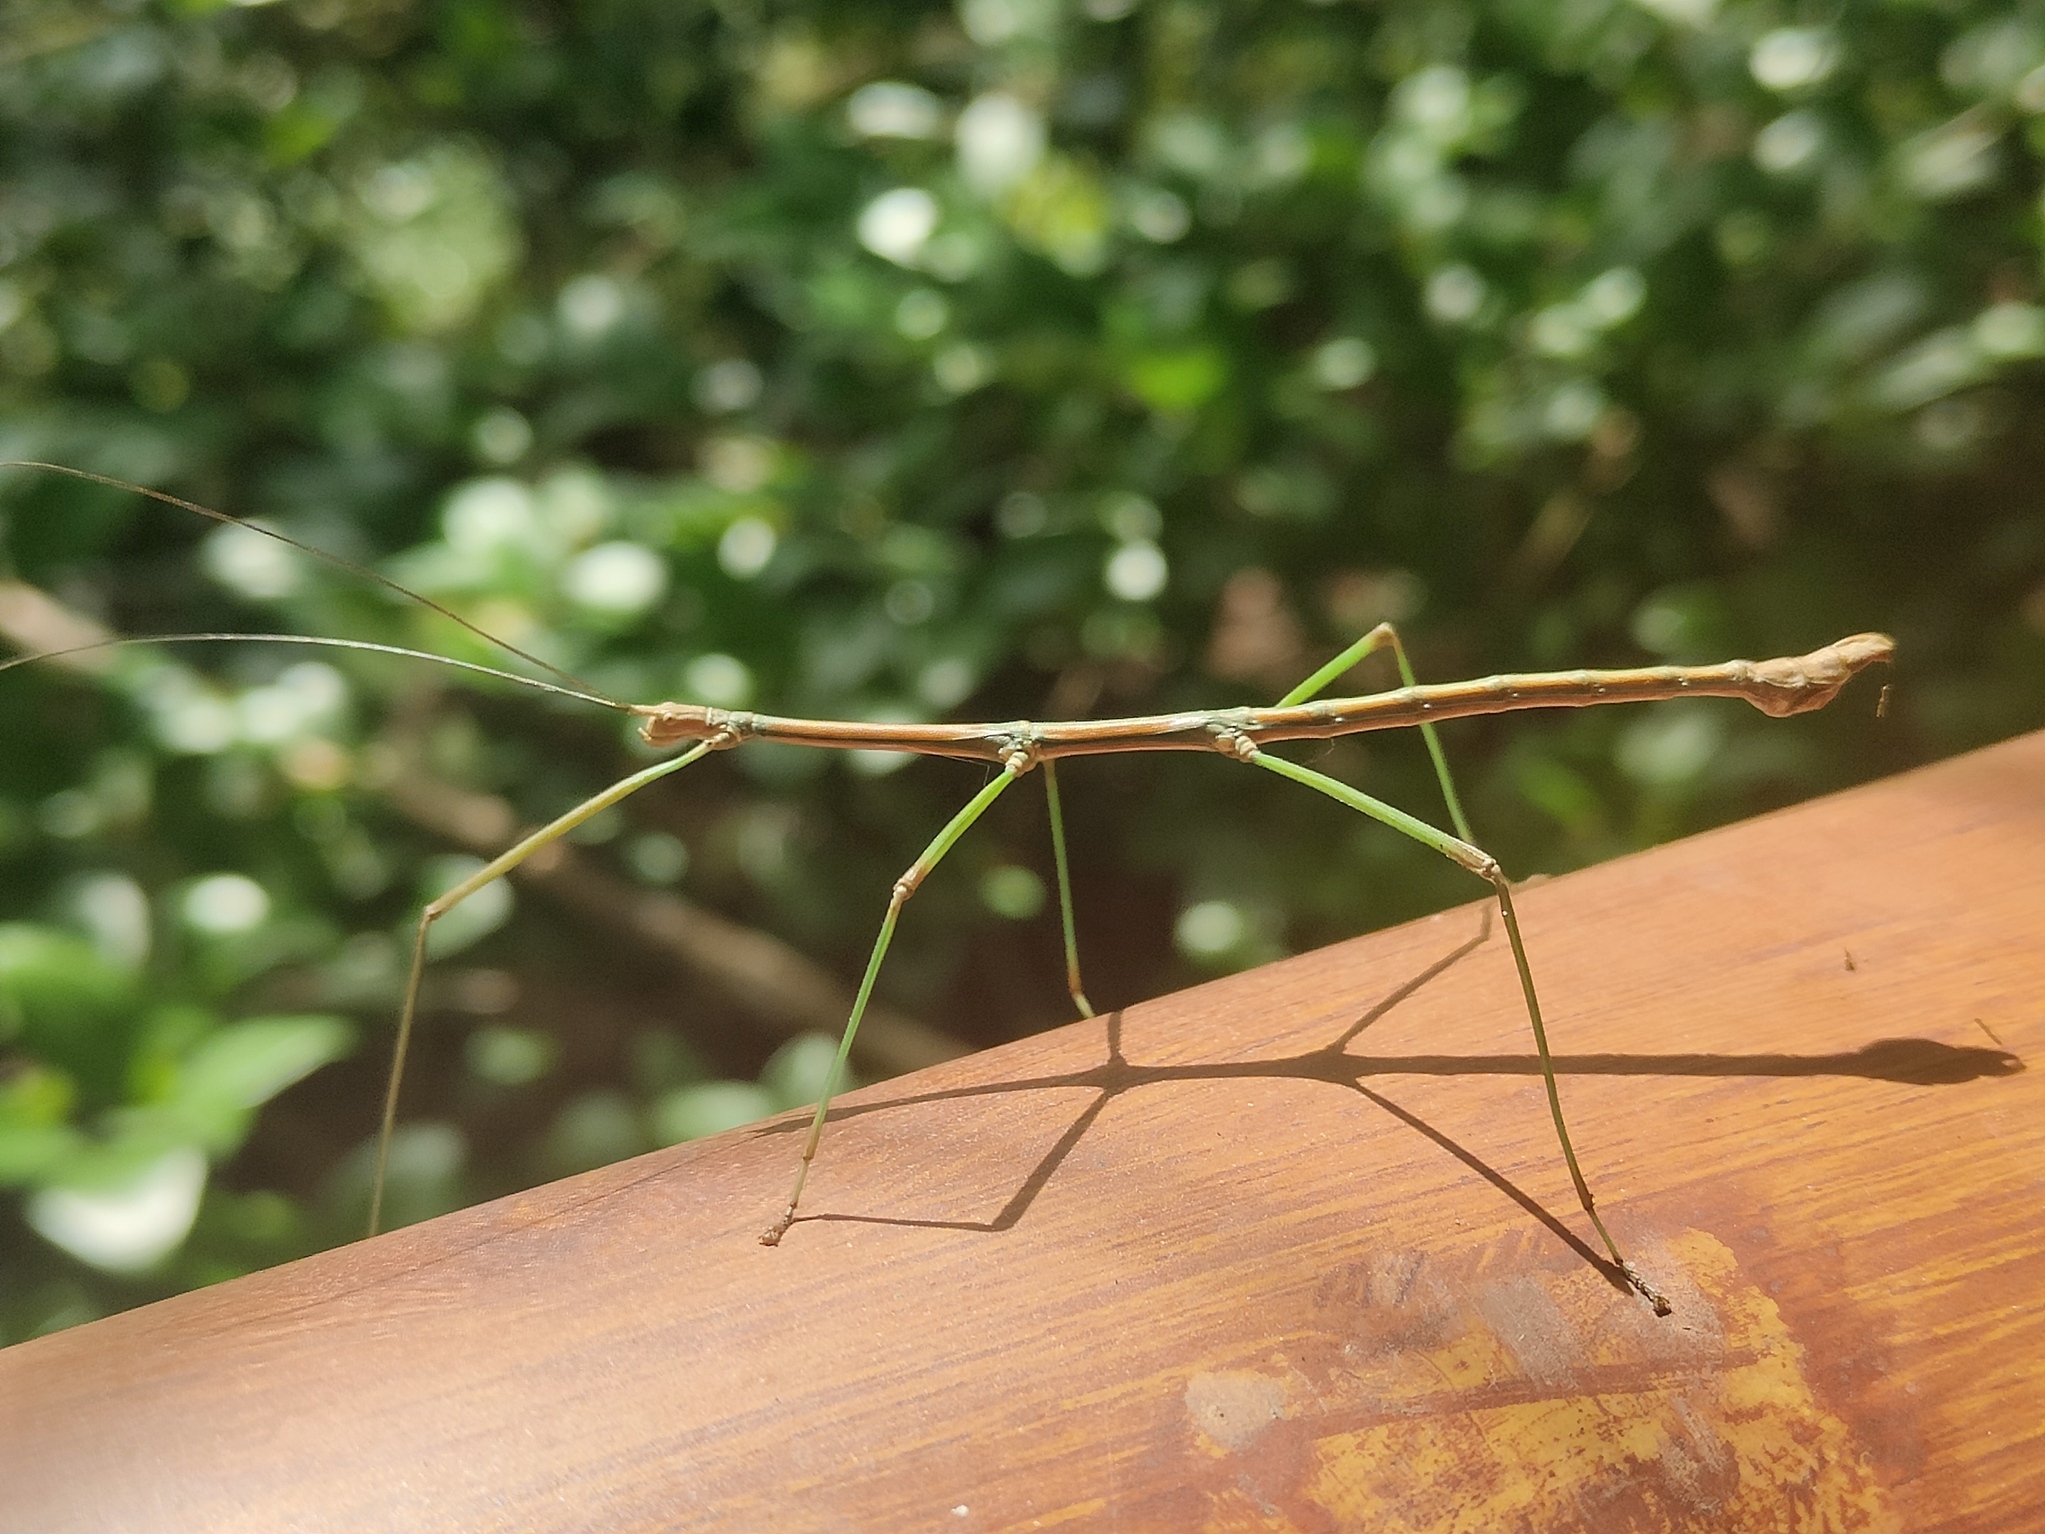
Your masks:
{"label": "thin brown stick insect with green legs and long antennae", "polygon": [[[1804,714],[1816,708],[1824,708],[1838,689],[1859,671],[1869,665],[1888,661],[1894,652],[1894,642],[1885,634],[1853,634],[1838,640],[1836,644],[1826,644],[1824,648],[1812,650],[1802,657],[1783,657],[1775,661],[1726,661],[1724,665],[1710,667],[1642,667],[1630,671],[1546,671],[1546,673],[1519,673],[1519,675],[1497,675],[1483,677],[1479,681],[1452,681],[1421,685],[1413,667],[1407,659],[1405,644],[1399,632],[1391,624],[1378,624],[1360,640],[1350,644],[1346,650],[1335,655],[1327,665],[1299,683],[1292,691],[1280,697],[1270,708],[1219,708],[1219,710],[1194,710],[1180,714],[1151,714],[1143,718],[1125,720],[1072,720],[1072,722],[1033,722],[1033,720],[1008,720],[998,724],[865,724],[847,720],[798,720],[798,718],[777,718],[773,714],[736,712],[724,708],[708,708],[699,704],[622,704],[614,697],[605,697],[593,687],[577,681],[573,675],[560,671],[558,667],[507,644],[474,624],[470,624],[460,614],[442,607],[429,597],[419,597],[417,593],[405,591],[387,577],[366,571],[350,560],[344,560],[325,550],[301,544],[276,530],[262,528],[260,524],[243,522],[241,517],[227,515],[223,511],[213,511],[209,507],[184,501],[162,491],[143,489],[137,485],[125,485],[100,475],[82,472],[76,468],[63,468],[61,464],[0,464],[0,466],[22,466],[22,468],[49,468],[55,472],[74,475],[78,479],[90,479],[117,489],[135,491],[151,499],[164,501],[168,505],[178,505],[198,515],[211,517],[215,522],[256,528],[270,538],[278,538],[301,552],[313,554],[329,565],[335,565],[352,575],[366,577],[393,589],[409,599],[421,601],[427,607],[452,618],[462,628],[489,640],[499,650],[515,655],[517,659],[548,671],[554,681],[540,681],[534,677],[521,677],[507,671],[495,671],[470,661],[454,661],[448,657],[425,655],[419,650],[405,650],[401,646],[372,644],[364,640],[344,640],[325,638],[309,634],[170,634],[153,638],[112,638],[96,640],[92,644],[80,644],[63,650],[45,650],[41,655],[16,657],[12,661],[0,663],[0,671],[27,665],[29,661],[47,661],[63,655],[78,655],[80,650],[98,650],[115,644],[145,644],[164,640],[280,640],[292,644],[323,644],[331,648],[352,648],[352,650],[376,650],[384,655],[407,655],[423,661],[438,661],[442,665],[458,667],[472,673],[483,673],[491,677],[501,677],[528,687],[538,687],[552,693],[562,693],[577,697],[587,704],[597,704],[601,708],[611,708],[622,714],[640,720],[640,736],[648,747],[669,749],[683,747],[673,757],[642,767],[636,773],[611,783],[603,792],[591,796],[589,800],[577,804],[566,814],[554,818],[552,822],[530,832],[509,851],[501,853],[497,859],[487,863],[483,869],[472,873],[468,879],[460,882],[446,894],[427,902],[419,912],[417,929],[413,935],[411,967],[405,982],[405,1000],[399,1012],[397,1043],[393,1047],[391,1076],[384,1090],[382,1123],[376,1139],[376,1172],[370,1197],[370,1219],[368,1233],[374,1235],[382,1221],[382,1192],[384,1176],[389,1168],[391,1137],[397,1127],[399,1094],[405,1076],[405,1055],[411,1045],[413,1019],[417,1014],[419,1002],[419,982],[425,972],[427,937],[434,922],[448,914],[462,900],[472,896],[476,890],[485,888],[493,879],[507,875],[519,863],[530,859],[540,849],[558,841],[575,826],[583,824],[591,816],[607,810],[609,806],[630,798],[638,789],[669,777],[695,761],[701,761],[714,751],[730,751],[744,745],[746,740],[781,740],[785,745],[816,747],[824,751],[900,751],[916,755],[953,757],[961,761],[980,761],[996,769],[996,773],[986,781],[986,785],[973,794],[973,798],[945,822],[943,830],[930,839],[922,855],[904,869],[902,877],[896,879],[894,892],[888,900],[888,910],[881,916],[879,935],[873,941],[873,951],[867,957],[865,974],[859,980],[859,992],[851,1006],[851,1017],[845,1023],[845,1033],[838,1039],[838,1051],[832,1062],[830,1074],[824,1084],[824,1092],[816,1104],[810,1119],[810,1129],[804,1139],[802,1160],[796,1168],[796,1180],[789,1188],[787,1203],[779,1217],[761,1231],[763,1246],[779,1246],[787,1235],[789,1227],[798,1219],[798,1209],[802,1205],[802,1190],[808,1182],[810,1168],[816,1162],[818,1143],[822,1141],[824,1123],[830,1117],[830,1102],[845,1080],[845,1066],[853,1049],[853,1039],[859,1033],[859,1023],[865,1017],[867,1002],[873,996],[875,980],[881,972],[881,961],[888,957],[888,947],[894,941],[896,922],[902,908],[908,904],[910,896],[922,886],[930,871],[943,861],[943,857],[959,843],[959,839],[980,820],[982,814],[1014,783],[1035,769],[1043,769],[1045,800],[1049,808],[1051,822],[1051,853],[1057,873],[1057,900],[1059,900],[1059,922],[1063,929],[1065,943],[1065,984],[1072,992],[1072,1002],[1082,1017],[1092,1017],[1092,1002],[1086,998],[1086,990],[1080,978],[1080,949],[1074,933],[1072,918],[1072,879],[1065,857],[1065,830],[1063,814],[1059,808],[1057,794],[1057,763],[1063,757],[1092,757],[1108,753],[1127,751],[1207,751],[1221,755],[1227,761],[1258,767],[1262,771],[1286,777],[1303,787],[1311,787],[1317,794],[1325,794],[1337,804],[1356,810],[1358,814],[1370,816],[1393,830],[1411,837],[1413,841],[1429,847],[1442,857],[1450,859],[1458,867],[1466,869],[1479,879],[1491,886],[1493,900],[1497,902],[1499,918],[1505,929],[1505,941],[1511,947],[1513,967],[1519,976],[1519,992],[1526,1002],[1528,1025],[1534,1035],[1534,1047],[1540,1057],[1542,1084],[1548,1096],[1548,1115],[1554,1123],[1556,1143],[1562,1149],[1562,1162],[1569,1168],[1571,1184],[1577,1190],[1577,1201],[1583,1205],[1585,1217],[1591,1221],[1605,1252],[1611,1258],[1614,1268],[1624,1280],[1638,1291],[1656,1313],[1667,1315],[1669,1301],[1642,1276],[1632,1262],[1620,1252],[1618,1242],[1605,1229],[1603,1217],[1597,1213],[1597,1203],[1591,1197],[1589,1180],[1577,1160],[1577,1149],[1569,1137],[1569,1125],[1562,1117],[1562,1096],[1556,1086],[1554,1059],[1548,1049],[1548,1029],[1542,1021],[1540,998],[1534,990],[1534,969],[1528,959],[1526,941],[1519,933],[1519,916],[1513,910],[1511,882],[1499,867],[1499,861],[1476,845],[1470,830],[1468,816],[1462,810],[1462,802],[1456,794],[1454,777],[1448,771],[1448,759],[1442,753],[1442,742],[1436,734],[1436,724],[1442,720],[1468,718],[1474,714],[1503,714],[1524,708],[1585,708],[1593,704],[1642,704],[1669,697],[1742,697],[1755,708],[1771,716]],[[1362,697],[1321,697],[1321,693],[1358,665],[1364,657],[1391,648],[1393,659],[1399,667],[1401,685],[1393,691],[1368,693]],[[1448,820],[1454,830],[1442,830],[1419,816],[1399,810],[1370,794],[1364,794],[1348,783],[1319,773],[1311,767],[1303,767],[1286,757],[1272,755],[1268,747],[1286,740],[1329,740],[1346,734],[1360,734],[1366,730],[1395,730],[1395,728],[1419,728],[1425,740],[1427,755],[1434,763],[1436,779],[1442,787],[1442,800],[1448,810]],[[1487,918],[1489,929],[1489,918]]]}

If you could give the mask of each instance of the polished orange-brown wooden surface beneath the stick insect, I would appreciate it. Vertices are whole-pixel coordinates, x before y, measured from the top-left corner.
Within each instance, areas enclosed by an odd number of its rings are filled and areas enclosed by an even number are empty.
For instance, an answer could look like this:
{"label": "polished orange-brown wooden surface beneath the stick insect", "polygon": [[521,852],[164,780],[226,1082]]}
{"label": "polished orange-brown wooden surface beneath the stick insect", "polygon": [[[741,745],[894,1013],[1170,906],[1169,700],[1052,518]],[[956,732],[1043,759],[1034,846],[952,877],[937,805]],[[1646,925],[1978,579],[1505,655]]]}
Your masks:
{"label": "polished orange-brown wooden surface beneath the stick insect", "polygon": [[0,1526],[2045,1528],[2045,736],[1519,910],[1665,1321],[1470,908],[0,1352]]}

